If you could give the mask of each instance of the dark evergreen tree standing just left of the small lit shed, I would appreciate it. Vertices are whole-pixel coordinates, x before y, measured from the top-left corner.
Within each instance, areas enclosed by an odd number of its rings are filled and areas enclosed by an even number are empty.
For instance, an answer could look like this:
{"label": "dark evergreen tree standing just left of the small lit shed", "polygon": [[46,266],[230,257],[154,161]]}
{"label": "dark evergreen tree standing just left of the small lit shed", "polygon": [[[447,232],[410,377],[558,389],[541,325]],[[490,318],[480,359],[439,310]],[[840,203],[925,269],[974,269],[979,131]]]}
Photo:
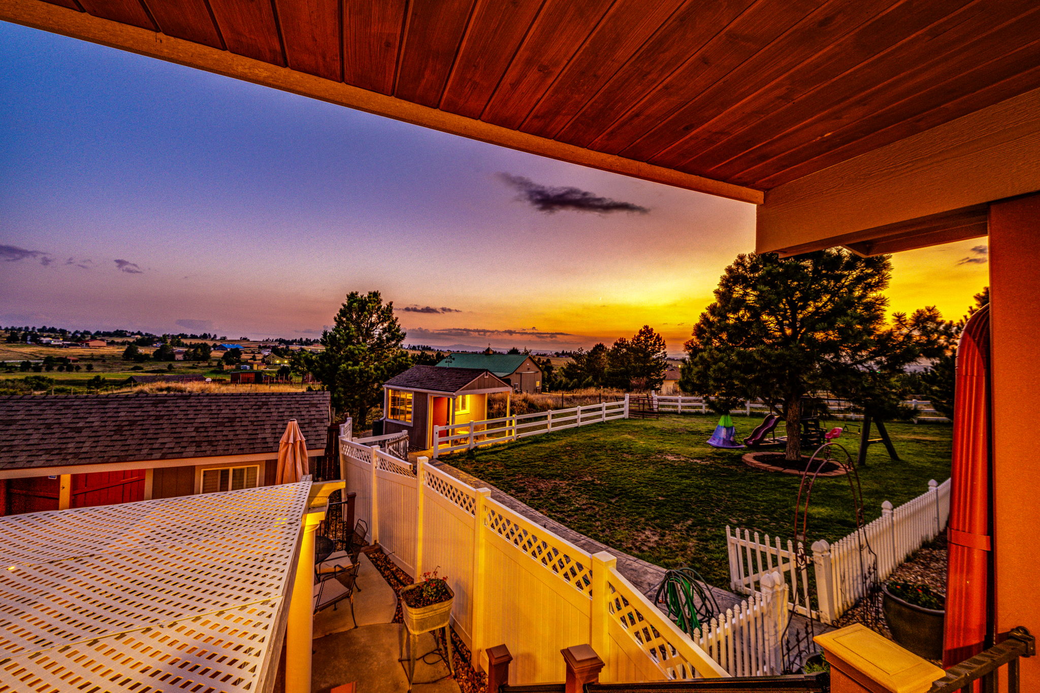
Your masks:
{"label": "dark evergreen tree standing just left of the small lit shed", "polygon": [[336,314],[332,329],[321,334],[324,350],[301,351],[300,367],[332,392],[332,405],[367,425],[368,414],[383,397],[383,383],[411,365],[401,348],[405,331],[383,303],[379,291],[350,292]]}

